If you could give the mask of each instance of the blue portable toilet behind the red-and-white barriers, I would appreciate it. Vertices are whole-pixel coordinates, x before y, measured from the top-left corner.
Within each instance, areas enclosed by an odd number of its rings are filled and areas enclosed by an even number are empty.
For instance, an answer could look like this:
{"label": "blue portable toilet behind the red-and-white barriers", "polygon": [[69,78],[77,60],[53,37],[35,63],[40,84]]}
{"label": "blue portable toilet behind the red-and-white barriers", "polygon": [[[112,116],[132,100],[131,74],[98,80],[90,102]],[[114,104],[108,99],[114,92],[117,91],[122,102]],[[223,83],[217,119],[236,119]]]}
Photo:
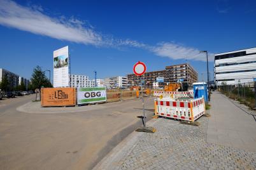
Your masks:
{"label": "blue portable toilet behind the red-and-white barriers", "polygon": [[194,98],[201,98],[204,96],[204,101],[208,102],[208,87],[206,82],[193,83]]}

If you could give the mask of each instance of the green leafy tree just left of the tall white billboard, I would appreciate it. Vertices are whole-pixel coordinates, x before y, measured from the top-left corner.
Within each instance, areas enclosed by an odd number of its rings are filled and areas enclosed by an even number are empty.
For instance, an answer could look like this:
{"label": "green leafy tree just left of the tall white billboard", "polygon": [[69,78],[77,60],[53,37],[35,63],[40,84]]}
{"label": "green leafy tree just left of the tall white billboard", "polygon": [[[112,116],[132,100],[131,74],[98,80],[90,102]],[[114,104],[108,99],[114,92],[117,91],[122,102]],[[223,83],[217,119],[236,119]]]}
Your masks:
{"label": "green leafy tree just left of the tall white billboard", "polygon": [[[41,67],[36,66],[34,68],[32,76],[31,76],[31,84],[33,89],[39,89],[39,93],[41,91],[41,88],[52,88],[52,84],[50,81],[46,78],[45,72],[42,71]],[[40,100],[41,100],[41,93],[40,95]],[[36,100],[38,97],[38,93],[36,93]]]}

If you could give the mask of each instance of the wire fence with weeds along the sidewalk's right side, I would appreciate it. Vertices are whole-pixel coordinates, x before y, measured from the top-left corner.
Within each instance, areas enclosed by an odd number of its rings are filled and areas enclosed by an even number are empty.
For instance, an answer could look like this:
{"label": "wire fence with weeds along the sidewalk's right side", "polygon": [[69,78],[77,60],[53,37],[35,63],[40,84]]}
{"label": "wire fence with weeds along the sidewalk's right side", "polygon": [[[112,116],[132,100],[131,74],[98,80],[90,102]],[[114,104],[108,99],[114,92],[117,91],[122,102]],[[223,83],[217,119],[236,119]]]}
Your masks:
{"label": "wire fence with weeds along the sidewalk's right side", "polygon": [[250,108],[255,108],[255,82],[245,82],[240,84],[222,84],[218,87],[224,95],[244,103]]}

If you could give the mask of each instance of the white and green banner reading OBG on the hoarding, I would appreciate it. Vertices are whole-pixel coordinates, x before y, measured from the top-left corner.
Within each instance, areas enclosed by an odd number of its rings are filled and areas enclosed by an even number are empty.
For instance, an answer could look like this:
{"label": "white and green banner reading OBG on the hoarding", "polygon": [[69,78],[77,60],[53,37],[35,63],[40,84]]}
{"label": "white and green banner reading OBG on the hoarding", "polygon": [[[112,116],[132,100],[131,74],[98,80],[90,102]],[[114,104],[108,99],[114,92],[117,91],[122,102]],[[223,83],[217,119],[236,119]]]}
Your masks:
{"label": "white and green banner reading OBG on the hoarding", "polygon": [[106,101],[106,88],[77,88],[77,103],[97,103]]}

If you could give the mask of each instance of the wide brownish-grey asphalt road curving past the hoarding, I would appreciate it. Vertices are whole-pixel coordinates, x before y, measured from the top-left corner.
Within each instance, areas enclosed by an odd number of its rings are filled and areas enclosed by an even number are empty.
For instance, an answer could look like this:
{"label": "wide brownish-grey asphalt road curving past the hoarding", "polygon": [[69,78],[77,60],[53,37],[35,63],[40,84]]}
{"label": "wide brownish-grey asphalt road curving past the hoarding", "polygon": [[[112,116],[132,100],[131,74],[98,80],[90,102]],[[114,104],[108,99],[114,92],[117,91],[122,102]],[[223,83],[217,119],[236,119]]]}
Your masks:
{"label": "wide brownish-grey asphalt road curving past the hoarding", "polygon": [[[34,95],[0,101],[0,169],[92,169],[141,121],[141,101],[95,105],[94,110],[18,112]],[[86,107],[86,106],[84,106]],[[145,98],[153,115],[153,98]]]}

